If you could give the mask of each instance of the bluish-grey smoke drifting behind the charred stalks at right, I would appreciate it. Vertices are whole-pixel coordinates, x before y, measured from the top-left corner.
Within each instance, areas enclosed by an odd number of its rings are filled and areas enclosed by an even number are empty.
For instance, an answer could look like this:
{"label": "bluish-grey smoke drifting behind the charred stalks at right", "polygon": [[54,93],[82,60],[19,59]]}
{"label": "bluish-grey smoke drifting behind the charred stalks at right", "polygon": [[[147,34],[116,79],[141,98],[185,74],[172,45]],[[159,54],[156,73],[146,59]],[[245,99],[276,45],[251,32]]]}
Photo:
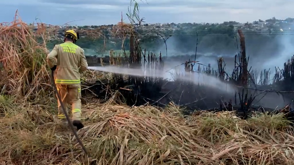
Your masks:
{"label": "bluish-grey smoke drifting behind the charred stalks at right", "polygon": [[[294,26],[291,27],[294,29]],[[262,34],[262,35],[261,35]],[[272,72],[275,67],[283,68],[284,63],[294,54],[294,33],[273,32],[268,35],[265,32],[259,34],[248,34],[245,32],[246,55],[249,58],[248,67],[251,70],[261,71],[270,69]],[[168,61],[194,60],[196,49],[196,35],[194,36],[171,36],[166,40]],[[147,50],[151,49],[146,47]],[[153,52],[166,56],[166,46],[162,39],[159,48],[153,48]],[[226,71],[231,72],[234,68],[235,55],[240,52],[239,38],[233,39],[225,35],[206,35],[198,36],[197,60],[202,64],[211,65],[211,68],[217,69],[217,59],[223,57],[226,62]],[[238,59],[238,57],[237,57]],[[238,61],[237,61],[238,62]]]}

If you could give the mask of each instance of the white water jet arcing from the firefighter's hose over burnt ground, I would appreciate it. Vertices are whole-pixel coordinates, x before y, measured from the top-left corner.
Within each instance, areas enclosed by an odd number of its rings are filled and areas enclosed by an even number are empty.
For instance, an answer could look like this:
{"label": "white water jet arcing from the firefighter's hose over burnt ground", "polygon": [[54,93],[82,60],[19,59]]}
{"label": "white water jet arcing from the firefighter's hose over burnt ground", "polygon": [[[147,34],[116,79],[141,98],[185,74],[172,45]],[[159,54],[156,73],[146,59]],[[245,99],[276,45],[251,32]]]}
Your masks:
{"label": "white water jet arcing from the firefighter's hose over burnt ground", "polygon": [[[174,63],[176,64],[176,63]],[[135,75],[135,76],[150,76],[150,77],[162,77],[164,79],[171,79],[171,72],[180,71],[183,70],[180,66],[177,68],[174,67],[166,67],[164,71],[160,70],[152,70],[150,72],[149,70],[143,71],[141,68],[134,69],[134,68],[120,68],[117,66],[92,66],[89,67],[89,69],[97,70],[97,71],[105,71],[105,72],[111,72],[111,73],[118,73],[118,74],[126,74],[126,75]],[[154,72],[155,71],[155,72]],[[169,71],[169,72],[166,72]],[[214,91],[211,93],[211,95],[215,95],[216,93],[226,96],[230,96],[231,99],[233,98],[235,92],[242,93],[242,89],[238,89],[235,86],[232,86],[228,83],[220,81],[220,79],[213,77],[213,76],[207,76],[202,73],[189,73],[184,72],[185,76],[177,77],[177,79],[187,81],[187,82],[193,82],[194,84],[199,84],[202,86],[207,86]],[[254,90],[250,90],[249,93],[254,93]],[[211,91],[210,91],[211,92]],[[245,91],[246,93],[246,91]],[[261,92],[258,92],[261,93]],[[258,94],[256,93],[256,94]],[[255,95],[256,95],[255,94]],[[238,99],[238,98],[237,98]],[[238,102],[238,100],[237,100]],[[289,104],[291,102],[290,99],[285,99],[281,95],[277,95],[276,93],[264,93],[259,95],[255,98],[254,105],[255,106],[264,106],[267,108],[277,108],[277,107],[283,107],[286,104]]]}

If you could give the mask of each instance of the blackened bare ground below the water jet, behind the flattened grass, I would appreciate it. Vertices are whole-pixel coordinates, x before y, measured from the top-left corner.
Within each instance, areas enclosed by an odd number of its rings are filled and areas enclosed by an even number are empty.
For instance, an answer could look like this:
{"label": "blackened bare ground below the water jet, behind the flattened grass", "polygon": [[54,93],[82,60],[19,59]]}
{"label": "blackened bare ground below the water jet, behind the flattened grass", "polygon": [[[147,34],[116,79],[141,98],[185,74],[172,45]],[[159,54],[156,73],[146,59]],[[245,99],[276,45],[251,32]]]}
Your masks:
{"label": "blackened bare ground below the water jet, behind the flattened grass", "polygon": [[[227,93],[224,90],[182,81],[167,82],[163,80],[157,84],[145,82],[141,83],[141,85],[130,84],[130,82],[117,82],[116,84],[118,85],[108,86],[108,89],[119,90],[121,94],[119,98],[124,98],[127,105],[130,106],[140,106],[149,102],[149,105],[165,107],[172,101],[176,105],[185,107],[185,114],[197,110],[234,110],[237,111],[239,116],[247,118],[252,110],[261,112],[273,111],[291,103],[291,96],[287,93],[278,95],[275,92],[262,92],[242,88],[236,88],[236,93]],[[94,84],[85,85],[92,86],[89,90],[95,93],[100,99],[107,100],[112,96],[111,91],[106,89],[107,85],[105,84],[107,82],[104,82],[104,85],[101,82],[95,82]],[[262,89],[266,87],[258,88]],[[91,94],[89,90],[85,90],[86,93],[84,92],[82,95]],[[251,95],[253,97],[256,96],[252,103],[250,102]],[[260,108],[261,106],[263,108]]]}

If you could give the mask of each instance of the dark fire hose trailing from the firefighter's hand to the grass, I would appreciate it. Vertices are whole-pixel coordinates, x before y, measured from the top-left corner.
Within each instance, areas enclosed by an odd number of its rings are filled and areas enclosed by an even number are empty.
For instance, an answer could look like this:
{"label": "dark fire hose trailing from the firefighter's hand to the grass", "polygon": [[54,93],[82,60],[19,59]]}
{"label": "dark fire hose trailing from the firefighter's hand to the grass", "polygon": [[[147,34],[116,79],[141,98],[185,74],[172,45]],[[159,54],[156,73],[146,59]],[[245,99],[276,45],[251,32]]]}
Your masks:
{"label": "dark fire hose trailing from the firefighter's hand to the grass", "polygon": [[[60,94],[58,93],[57,87],[56,87],[55,82],[54,82],[54,71],[53,71],[53,70],[51,71],[51,77],[50,77],[50,79],[51,79],[51,83],[52,83],[53,89],[54,89],[54,91],[55,91],[55,93],[56,93],[56,95],[57,95],[57,97],[58,97],[59,102],[60,102],[60,105],[61,105],[62,111],[63,111],[63,113],[65,114],[66,120],[68,121],[68,123],[69,123],[69,125],[70,125],[70,129],[73,131],[74,136],[77,138],[77,141],[79,142],[79,144],[80,144],[81,148],[83,149],[83,151],[85,152],[86,156],[90,157],[90,156],[89,156],[89,153],[88,153],[88,151],[87,151],[87,149],[86,149],[85,146],[83,145],[83,142],[81,141],[81,139],[80,139],[79,136],[77,135],[77,131],[74,129],[74,125],[73,125],[73,123],[71,122],[70,117],[69,117],[68,114],[67,114],[67,111],[66,111],[66,108],[67,108],[67,107],[65,108],[65,107],[64,107],[64,104],[62,103],[61,96],[60,96]],[[92,163],[94,163],[94,162],[92,162]],[[94,163],[94,164],[96,164],[96,163]]]}

